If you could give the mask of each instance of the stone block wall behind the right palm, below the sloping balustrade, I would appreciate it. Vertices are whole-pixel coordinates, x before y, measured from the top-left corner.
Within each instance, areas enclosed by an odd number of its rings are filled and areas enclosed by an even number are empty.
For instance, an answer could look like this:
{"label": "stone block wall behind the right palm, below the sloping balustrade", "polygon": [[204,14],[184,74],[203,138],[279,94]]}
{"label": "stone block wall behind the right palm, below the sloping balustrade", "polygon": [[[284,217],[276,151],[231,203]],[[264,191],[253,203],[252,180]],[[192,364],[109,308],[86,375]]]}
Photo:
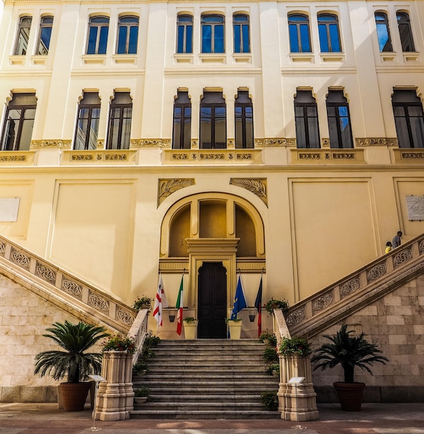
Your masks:
{"label": "stone block wall behind the right palm, below the sloping balustrade", "polygon": [[[344,320],[364,332],[389,358],[387,365],[371,367],[373,376],[355,368],[355,381],[366,383],[364,400],[369,402],[424,402],[424,275],[416,277],[385,297]],[[342,322],[311,338],[316,349],[329,342]],[[342,367],[313,371],[318,402],[336,402],[333,382],[343,381]]]}

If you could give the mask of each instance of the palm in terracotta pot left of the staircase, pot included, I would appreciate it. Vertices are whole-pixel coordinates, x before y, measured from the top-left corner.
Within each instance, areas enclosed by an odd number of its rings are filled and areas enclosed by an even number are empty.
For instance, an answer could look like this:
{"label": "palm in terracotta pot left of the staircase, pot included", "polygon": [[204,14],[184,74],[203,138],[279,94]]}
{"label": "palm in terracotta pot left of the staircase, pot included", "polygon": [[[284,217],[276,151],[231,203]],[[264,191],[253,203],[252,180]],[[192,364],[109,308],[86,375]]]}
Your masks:
{"label": "palm in terracotta pot left of the staircase, pot included", "polygon": [[87,350],[98,340],[109,336],[104,327],[96,327],[85,322],[72,324],[65,320],[55,322],[46,329],[50,334],[43,336],[52,339],[64,351],[42,351],[35,356],[35,374],[49,374],[55,380],[66,377],[60,384],[64,410],[84,410],[90,383],[85,381],[89,374],[100,374],[102,355]]}

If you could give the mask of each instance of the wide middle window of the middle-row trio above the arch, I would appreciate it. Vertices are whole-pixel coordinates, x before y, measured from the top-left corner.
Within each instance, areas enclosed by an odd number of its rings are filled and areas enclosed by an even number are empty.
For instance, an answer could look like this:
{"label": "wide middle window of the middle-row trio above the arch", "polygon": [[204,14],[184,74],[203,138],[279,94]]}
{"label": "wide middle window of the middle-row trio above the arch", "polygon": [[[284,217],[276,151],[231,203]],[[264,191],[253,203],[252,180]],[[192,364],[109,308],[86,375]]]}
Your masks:
{"label": "wide middle window of the middle-row trio above the arch", "polygon": [[227,148],[227,110],[222,92],[204,92],[200,102],[200,148]]}

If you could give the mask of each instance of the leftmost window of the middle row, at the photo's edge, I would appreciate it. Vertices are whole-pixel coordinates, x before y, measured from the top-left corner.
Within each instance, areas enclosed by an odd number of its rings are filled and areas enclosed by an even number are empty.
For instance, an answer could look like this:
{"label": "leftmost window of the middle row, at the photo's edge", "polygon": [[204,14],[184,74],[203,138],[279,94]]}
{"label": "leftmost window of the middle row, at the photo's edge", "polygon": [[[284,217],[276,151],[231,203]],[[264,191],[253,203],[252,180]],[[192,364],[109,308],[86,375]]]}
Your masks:
{"label": "leftmost window of the middle row, at the photo's edge", "polygon": [[1,150],[29,150],[36,107],[35,94],[13,94],[6,110]]}

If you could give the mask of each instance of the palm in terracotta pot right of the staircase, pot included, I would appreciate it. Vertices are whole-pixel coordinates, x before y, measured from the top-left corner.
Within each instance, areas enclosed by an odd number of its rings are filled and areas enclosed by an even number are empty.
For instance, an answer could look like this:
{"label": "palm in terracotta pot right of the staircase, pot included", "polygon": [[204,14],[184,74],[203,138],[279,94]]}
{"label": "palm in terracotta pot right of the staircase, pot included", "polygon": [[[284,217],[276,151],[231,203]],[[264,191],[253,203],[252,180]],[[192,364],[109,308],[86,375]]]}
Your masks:
{"label": "palm in terracotta pot right of the staircase, pot included", "polygon": [[342,410],[360,411],[365,383],[354,381],[355,367],[360,367],[373,375],[369,366],[375,363],[385,365],[389,359],[381,355],[382,351],[376,344],[371,344],[364,338],[364,333],[351,336],[354,331],[347,328],[347,324],[342,324],[335,336],[325,335],[324,338],[330,340],[330,343],[321,345],[312,356],[311,362],[315,364],[314,370],[326,370],[341,365],[344,381],[336,381],[333,385],[337,390]]}

